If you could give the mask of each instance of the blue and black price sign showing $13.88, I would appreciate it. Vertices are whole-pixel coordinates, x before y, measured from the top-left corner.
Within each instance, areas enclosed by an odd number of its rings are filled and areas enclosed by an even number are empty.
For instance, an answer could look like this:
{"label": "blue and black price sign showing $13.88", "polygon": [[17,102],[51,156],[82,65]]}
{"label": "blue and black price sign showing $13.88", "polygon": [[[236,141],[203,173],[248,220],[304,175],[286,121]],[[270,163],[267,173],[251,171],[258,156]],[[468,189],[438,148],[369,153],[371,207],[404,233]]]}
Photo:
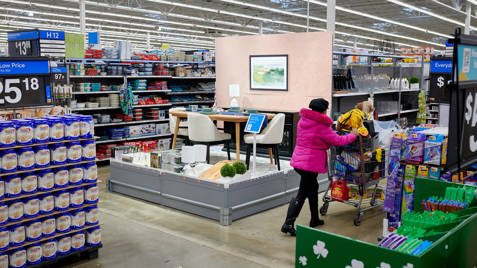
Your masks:
{"label": "blue and black price sign showing $13.88", "polygon": [[38,56],[38,30],[8,31],[8,51],[11,57]]}

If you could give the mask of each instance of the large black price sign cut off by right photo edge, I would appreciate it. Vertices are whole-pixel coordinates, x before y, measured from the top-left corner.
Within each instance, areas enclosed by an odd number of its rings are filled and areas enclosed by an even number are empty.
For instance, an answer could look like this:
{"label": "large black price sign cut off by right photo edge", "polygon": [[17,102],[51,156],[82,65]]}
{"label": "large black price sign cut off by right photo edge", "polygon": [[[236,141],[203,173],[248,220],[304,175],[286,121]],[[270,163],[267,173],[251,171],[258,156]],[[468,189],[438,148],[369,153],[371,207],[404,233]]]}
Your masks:
{"label": "large black price sign cut off by right photo edge", "polygon": [[446,165],[453,174],[477,163],[477,37],[457,31]]}

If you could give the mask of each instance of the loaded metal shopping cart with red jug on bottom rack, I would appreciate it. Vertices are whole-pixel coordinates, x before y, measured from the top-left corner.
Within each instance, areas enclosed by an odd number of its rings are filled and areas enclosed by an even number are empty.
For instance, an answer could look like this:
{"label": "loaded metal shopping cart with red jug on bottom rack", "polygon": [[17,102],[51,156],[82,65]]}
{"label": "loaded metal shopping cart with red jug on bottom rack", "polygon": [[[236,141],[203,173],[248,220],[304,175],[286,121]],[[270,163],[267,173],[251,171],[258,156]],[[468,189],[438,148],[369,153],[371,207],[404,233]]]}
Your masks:
{"label": "loaded metal shopping cart with red jug on bottom rack", "polygon": [[[375,206],[384,204],[383,200],[377,199],[376,192],[378,183],[387,177],[387,159],[386,150],[381,151],[381,161],[376,159],[379,145],[379,133],[371,139],[364,139],[361,135],[351,144],[336,147],[332,146],[327,152],[328,156],[328,179],[330,184],[323,195],[324,205],[320,207],[320,214],[325,215],[328,211],[330,202],[338,201],[344,204],[357,207],[358,215],[354,217],[354,224],[359,226],[363,220],[363,212]],[[333,178],[346,180],[348,185],[358,186],[356,196],[350,197],[350,200],[342,200],[331,196],[331,187]],[[384,196],[384,193],[380,193]],[[353,199],[355,198],[355,199]],[[357,199],[359,198],[359,200]],[[362,208],[363,199],[371,199],[370,207]],[[353,201],[354,200],[354,201]],[[365,200],[367,201],[367,200]]]}

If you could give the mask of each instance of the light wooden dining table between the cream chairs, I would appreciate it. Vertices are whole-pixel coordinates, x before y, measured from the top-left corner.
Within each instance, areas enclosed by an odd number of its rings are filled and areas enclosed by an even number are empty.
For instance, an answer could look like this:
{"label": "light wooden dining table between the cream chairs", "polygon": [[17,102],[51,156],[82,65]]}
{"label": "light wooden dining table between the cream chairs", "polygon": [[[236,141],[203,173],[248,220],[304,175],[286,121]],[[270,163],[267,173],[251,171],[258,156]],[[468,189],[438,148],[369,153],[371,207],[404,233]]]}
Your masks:
{"label": "light wooden dining table between the cream chairs", "polygon": [[[174,139],[172,141],[172,149],[176,148],[176,139],[177,139],[177,132],[179,131],[179,124],[182,118],[187,118],[187,113],[197,113],[197,112],[189,112],[189,111],[170,111],[169,116],[176,116],[176,129],[174,131]],[[275,116],[275,113],[262,113],[268,116],[268,119],[272,119]],[[237,161],[240,161],[240,123],[247,122],[249,120],[249,116],[247,115],[235,115],[235,114],[206,114],[211,120],[216,121],[224,121],[224,122],[235,122],[235,144],[237,149]],[[271,155],[270,155],[271,159]]]}

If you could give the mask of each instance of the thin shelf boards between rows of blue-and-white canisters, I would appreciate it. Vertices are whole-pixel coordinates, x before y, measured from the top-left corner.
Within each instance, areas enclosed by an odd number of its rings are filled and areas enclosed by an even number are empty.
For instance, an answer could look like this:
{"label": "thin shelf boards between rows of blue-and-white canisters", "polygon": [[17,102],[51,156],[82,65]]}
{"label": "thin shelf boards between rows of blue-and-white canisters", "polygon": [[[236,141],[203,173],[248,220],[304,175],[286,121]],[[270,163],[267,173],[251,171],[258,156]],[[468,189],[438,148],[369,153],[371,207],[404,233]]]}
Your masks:
{"label": "thin shelf boards between rows of blue-and-white canisters", "polygon": [[[83,140],[93,140],[93,139],[97,139],[99,137],[96,137],[94,136],[93,138],[90,138],[90,139],[77,139],[75,141],[83,141]],[[43,143],[43,144],[33,144],[33,145],[16,145],[16,146],[12,146],[12,147],[2,147],[0,148],[0,151],[1,150],[6,150],[6,149],[14,149],[14,148],[21,148],[21,147],[26,147],[26,146],[35,146],[35,145],[45,145],[45,144],[57,144],[57,143],[64,143],[65,141],[60,141],[60,142],[48,142],[48,143]],[[66,141],[67,142],[67,141]],[[48,169],[48,168],[54,168],[54,167],[62,167],[62,166],[69,166],[69,165],[78,165],[78,164],[83,164],[83,163],[90,163],[90,162],[96,162],[98,161],[98,159],[95,159],[95,160],[90,160],[90,161],[81,161],[79,163],[67,163],[67,164],[64,164],[64,165],[50,165],[49,167],[41,167],[41,168],[33,168],[31,170],[19,170],[19,171],[16,171],[16,172],[10,172],[10,173],[1,173],[0,174],[0,177],[1,176],[4,176],[4,175],[13,175],[13,174],[21,174],[21,173],[25,173],[25,172],[31,172],[31,171],[38,171],[38,170],[43,170],[43,169]],[[97,180],[97,182],[94,182],[94,183],[98,183],[98,182],[101,182],[100,180]],[[37,196],[37,195],[40,195],[40,194],[45,194],[45,193],[53,193],[53,192],[56,192],[56,191],[60,191],[60,190],[64,190],[64,189],[69,189],[69,188],[73,188],[73,187],[79,187],[79,186],[87,186],[87,185],[91,185],[93,183],[83,183],[81,185],[70,185],[70,186],[67,186],[67,187],[64,187],[64,188],[53,188],[52,190],[49,190],[49,191],[39,191],[37,193],[33,193],[33,194],[22,194],[20,196],[17,196],[17,197],[6,197],[6,198],[3,198],[1,201],[2,202],[5,202],[5,201],[9,201],[9,200],[13,200],[13,199],[19,199],[19,198],[24,198],[24,197],[28,197],[28,196]],[[44,215],[44,214],[40,214],[39,216],[36,216],[36,217],[32,217],[32,218],[23,218],[22,220],[20,221],[15,221],[15,222],[8,222],[6,225],[4,225],[4,227],[7,227],[7,226],[10,226],[10,225],[13,225],[13,224],[18,224],[18,223],[23,223],[23,222],[26,222],[26,221],[31,221],[31,220],[34,220],[34,219],[39,219],[39,218],[42,218],[42,217],[45,217],[45,216],[51,216],[51,215],[56,215],[56,214],[59,214],[59,213],[62,213],[62,212],[67,212],[67,211],[71,211],[71,210],[74,210],[74,209],[80,209],[80,208],[85,208],[85,207],[88,207],[88,206],[93,206],[93,205],[97,205],[97,204],[101,204],[101,203],[104,203],[104,201],[101,201],[98,199],[98,202],[94,203],[94,204],[83,204],[83,206],[81,207],[70,207],[69,209],[67,210],[63,210],[63,211],[56,211],[54,210],[52,213],[50,214],[47,214],[47,215]],[[51,239],[51,238],[55,238],[55,237],[60,237],[60,236],[63,236],[63,235],[66,235],[66,234],[70,234],[70,233],[74,233],[74,232],[77,232],[77,231],[82,231],[82,230],[86,230],[86,229],[90,229],[90,228],[93,228],[93,227],[96,227],[96,226],[100,226],[100,225],[103,225],[104,222],[102,221],[98,221],[97,224],[95,225],[85,225],[83,228],[81,229],[71,229],[71,231],[69,232],[65,232],[65,233],[56,233],[56,235],[54,236],[51,236],[51,237],[42,237],[40,240],[37,240],[37,241],[25,241],[25,243],[21,246],[15,246],[15,247],[9,247],[8,250],[12,250],[12,249],[15,249],[15,248],[18,248],[18,247],[26,247],[28,245],[31,245],[31,244],[34,244],[34,243],[38,243],[38,242],[41,242],[41,241],[44,241],[44,240],[48,240],[48,239]],[[86,239],[84,241],[84,243],[86,244]],[[103,247],[103,245],[98,245],[98,246],[94,246],[94,247],[88,247],[88,249],[86,250],[86,248],[84,250],[81,250],[81,251],[73,251],[75,252],[75,254],[78,254],[78,253],[83,253],[83,252],[87,252],[87,251],[93,251],[93,250],[97,250],[98,248],[101,248]],[[95,253],[93,253],[93,255],[97,254],[97,251]],[[59,255],[58,259],[60,258],[64,258],[62,257],[62,255]],[[95,258],[95,257],[93,257]],[[49,265],[50,263],[54,263],[54,262],[57,262],[57,258],[53,259],[53,260],[45,260],[43,262],[41,262],[40,264],[37,264],[37,265],[27,265],[27,267],[43,267],[43,266],[46,266],[46,265]]]}

